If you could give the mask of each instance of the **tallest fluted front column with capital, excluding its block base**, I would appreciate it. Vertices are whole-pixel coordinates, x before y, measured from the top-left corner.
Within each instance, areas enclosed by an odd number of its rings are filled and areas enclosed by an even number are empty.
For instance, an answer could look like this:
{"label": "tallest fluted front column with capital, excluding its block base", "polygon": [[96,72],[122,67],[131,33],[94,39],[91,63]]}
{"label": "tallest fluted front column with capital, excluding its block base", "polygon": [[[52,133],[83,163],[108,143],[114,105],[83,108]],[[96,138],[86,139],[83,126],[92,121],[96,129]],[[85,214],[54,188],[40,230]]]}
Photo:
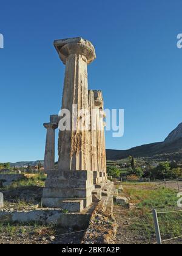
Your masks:
{"label": "tallest fluted front column with capital, excluding its block base", "polygon": [[76,129],[73,130],[73,105],[76,111],[89,111],[87,64],[95,58],[95,49],[83,38],[56,40],[55,48],[62,62],[66,64],[62,108],[71,114],[71,130],[59,131],[58,168],[68,170],[91,170],[89,151],[89,131],[78,127],[79,116],[76,118]]}

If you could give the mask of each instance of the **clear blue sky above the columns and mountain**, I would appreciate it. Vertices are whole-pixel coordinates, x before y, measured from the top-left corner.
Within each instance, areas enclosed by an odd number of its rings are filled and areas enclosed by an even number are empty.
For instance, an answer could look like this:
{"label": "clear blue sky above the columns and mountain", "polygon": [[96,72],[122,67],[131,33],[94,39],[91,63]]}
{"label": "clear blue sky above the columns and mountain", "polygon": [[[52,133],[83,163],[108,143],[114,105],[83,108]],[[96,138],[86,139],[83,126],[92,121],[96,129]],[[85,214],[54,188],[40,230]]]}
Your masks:
{"label": "clear blue sky above the columns and mountain", "polygon": [[107,148],[164,140],[182,122],[181,10],[181,0],[2,0],[0,162],[44,158],[42,123],[61,107],[59,38],[92,41],[89,88],[125,110],[124,137],[107,132]]}

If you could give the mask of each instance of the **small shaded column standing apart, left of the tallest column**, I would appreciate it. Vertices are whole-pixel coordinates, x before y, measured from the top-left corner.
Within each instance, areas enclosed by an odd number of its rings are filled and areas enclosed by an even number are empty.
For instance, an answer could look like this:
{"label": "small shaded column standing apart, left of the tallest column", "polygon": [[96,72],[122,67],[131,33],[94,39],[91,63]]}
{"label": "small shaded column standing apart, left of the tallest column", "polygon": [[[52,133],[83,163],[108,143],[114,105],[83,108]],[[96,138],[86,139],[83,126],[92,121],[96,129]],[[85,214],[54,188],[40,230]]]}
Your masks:
{"label": "small shaded column standing apart, left of the tallest column", "polygon": [[45,123],[44,127],[47,129],[45,155],[44,155],[44,171],[55,168],[55,129],[58,125]]}

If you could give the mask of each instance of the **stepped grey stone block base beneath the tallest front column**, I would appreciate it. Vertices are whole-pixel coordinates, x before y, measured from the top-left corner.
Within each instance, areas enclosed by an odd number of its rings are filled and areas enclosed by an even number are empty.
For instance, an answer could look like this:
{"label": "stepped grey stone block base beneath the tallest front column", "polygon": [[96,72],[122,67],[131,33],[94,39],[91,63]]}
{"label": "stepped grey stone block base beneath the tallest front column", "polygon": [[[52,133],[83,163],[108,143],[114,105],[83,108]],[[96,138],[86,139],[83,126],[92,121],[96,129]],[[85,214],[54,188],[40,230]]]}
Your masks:
{"label": "stepped grey stone block base beneath the tallest front column", "polygon": [[92,171],[50,170],[47,171],[42,206],[61,208],[65,201],[66,204],[76,201],[76,212],[81,212],[83,207],[79,208],[79,204],[83,201],[83,206],[89,207],[94,189]]}

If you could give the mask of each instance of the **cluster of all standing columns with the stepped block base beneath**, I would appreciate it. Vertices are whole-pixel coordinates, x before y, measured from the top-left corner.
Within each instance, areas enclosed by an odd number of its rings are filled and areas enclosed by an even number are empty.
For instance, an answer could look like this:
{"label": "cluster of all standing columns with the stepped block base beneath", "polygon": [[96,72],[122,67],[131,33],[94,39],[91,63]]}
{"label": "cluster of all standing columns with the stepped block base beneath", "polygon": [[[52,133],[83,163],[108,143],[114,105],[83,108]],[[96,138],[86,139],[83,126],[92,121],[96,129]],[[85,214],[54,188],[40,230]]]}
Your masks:
{"label": "cluster of all standing columns with the stepped block base beneath", "polygon": [[[51,115],[50,123],[44,124],[47,180],[42,205],[82,212],[92,204],[95,185],[107,180],[103,95],[101,91],[88,90],[87,65],[96,59],[92,43],[78,37],[55,40],[54,46],[66,65],[62,110],[69,110],[72,121],[70,130],[59,130],[58,169],[55,169],[55,129],[61,117]],[[73,116],[73,106],[76,106],[76,116]],[[81,119],[78,113],[83,109],[90,113],[90,126],[85,130],[78,126]],[[81,126],[84,125],[83,121]]]}

